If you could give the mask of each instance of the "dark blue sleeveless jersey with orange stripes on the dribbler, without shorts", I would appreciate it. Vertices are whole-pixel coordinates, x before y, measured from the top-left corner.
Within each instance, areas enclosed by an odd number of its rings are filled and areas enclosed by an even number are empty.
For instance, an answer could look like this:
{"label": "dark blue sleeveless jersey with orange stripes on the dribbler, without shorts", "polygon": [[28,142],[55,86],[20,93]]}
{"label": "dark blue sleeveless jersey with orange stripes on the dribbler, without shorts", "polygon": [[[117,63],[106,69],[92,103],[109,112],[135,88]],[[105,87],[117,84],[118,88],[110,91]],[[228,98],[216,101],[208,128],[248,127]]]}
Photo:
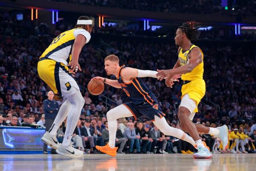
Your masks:
{"label": "dark blue sleeveless jersey with orange stripes on the dribbler, without shorts", "polygon": [[158,103],[157,97],[152,91],[149,90],[148,86],[141,78],[134,78],[129,83],[124,82],[122,79],[122,70],[124,68],[126,67],[121,67],[118,71],[117,81],[122,87],[123,91],[125,91],[126,95],[130,97],[130,100],[134,103],[134,105],[139,105],[143,102],[148,102],[151,105]]}

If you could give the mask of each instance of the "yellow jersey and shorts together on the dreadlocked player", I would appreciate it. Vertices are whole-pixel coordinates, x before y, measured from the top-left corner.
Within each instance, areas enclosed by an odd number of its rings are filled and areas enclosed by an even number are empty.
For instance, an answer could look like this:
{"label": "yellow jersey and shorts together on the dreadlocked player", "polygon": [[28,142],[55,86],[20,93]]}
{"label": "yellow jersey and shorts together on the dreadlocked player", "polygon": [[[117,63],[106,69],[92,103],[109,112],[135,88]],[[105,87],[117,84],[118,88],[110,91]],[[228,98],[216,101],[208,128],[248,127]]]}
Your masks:
{"label": "yellow jersey and shorts together on the dreadlocked player", "polygon": [[[183,51],[182,48],[180,49],[178,53],[178,60],[180,62],[180,66],[184,66],[188,63],[189,61],[188,54],[195,47],[198,47],[198,46],[192,45],[186,51]],[[204,60],[204,54],[201,49],[200,51],[202,54],[202,58]],[[183,84],[181,88],[182,97],[185,94],[189,94],[189,98],[193,99],[196,102],[196,105],[200,103],[201,99],[204,97],[204,94],[205,94],[206,88],[205,88],[205,82],[203,80],[203,74],[204,74],[204,61],[199,63],[198,66],[196,66],[191,72],[181,75],[182,80],[189,81],[189,83]],[[198,112],[197,107],[194,112]]]}

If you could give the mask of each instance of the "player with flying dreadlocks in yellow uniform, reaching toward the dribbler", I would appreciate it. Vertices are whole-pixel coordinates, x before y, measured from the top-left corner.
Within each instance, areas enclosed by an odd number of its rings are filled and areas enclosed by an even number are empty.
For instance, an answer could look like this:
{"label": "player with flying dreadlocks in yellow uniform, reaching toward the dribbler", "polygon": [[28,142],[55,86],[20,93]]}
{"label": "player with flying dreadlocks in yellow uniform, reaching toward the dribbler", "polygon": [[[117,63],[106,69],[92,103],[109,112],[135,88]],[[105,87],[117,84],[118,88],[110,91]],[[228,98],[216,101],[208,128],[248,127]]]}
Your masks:
{"label": "player with flying dreadlocks in yellow uniform, reaching toward the dribbler", "polygon": [[194,158],[210,158],[212,154],[204,146],[198,133],[211,134],[219,137],[222,145],[227,149],[228,128],[223,125],[218,128],[209,128],[201,124],[192,123],[195,112],[198,112],[198,103],[205,94],[204,74],[204,54],[202,50],[191,43],[197,40],[200,31],[200,24],[194,21],[183,23],[176,31],[175,43],[178,48],[178,60],[169,70],[157,70],[160,80],[166,78],[166,85],[171,87],[173,84],[172,77],[176,74],[182,74],[183,86],[181,88],[182,97],[178,111],[180,126],[183,131],[189,132],[190,136],[195,140],[198,153],[194,154]]}

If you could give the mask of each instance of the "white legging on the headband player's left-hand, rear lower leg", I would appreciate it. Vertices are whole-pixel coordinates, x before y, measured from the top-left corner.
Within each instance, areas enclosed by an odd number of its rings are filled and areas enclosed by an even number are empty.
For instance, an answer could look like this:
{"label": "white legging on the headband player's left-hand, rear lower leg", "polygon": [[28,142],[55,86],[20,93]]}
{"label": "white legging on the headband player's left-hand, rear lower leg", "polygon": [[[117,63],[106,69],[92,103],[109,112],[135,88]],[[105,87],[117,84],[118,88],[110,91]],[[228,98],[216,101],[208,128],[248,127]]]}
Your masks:
{"label": "white legging on the headband player's left-hand, rear lower leg", "polygon": [[57,131],[59,126],[61,125],[61,123],[63,123],[63,121],[65,120],[65,118],[67,117],[67,114],[70,111],[70,106],[71,103],[66,100],[60,107],[58,114],[52,124],[52,128],[49,129],[49,133],[51,136],[56,136],[57,135]]}

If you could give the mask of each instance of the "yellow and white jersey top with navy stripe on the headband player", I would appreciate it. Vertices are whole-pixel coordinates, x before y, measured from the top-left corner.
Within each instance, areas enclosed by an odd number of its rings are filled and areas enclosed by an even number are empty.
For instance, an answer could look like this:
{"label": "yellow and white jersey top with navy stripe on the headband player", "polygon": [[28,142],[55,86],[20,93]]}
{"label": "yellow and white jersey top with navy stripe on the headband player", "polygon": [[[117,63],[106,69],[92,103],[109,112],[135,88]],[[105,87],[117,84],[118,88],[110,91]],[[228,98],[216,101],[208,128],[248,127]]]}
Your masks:
{"label": "yellow and white jersey top with navy stripe on the headband player", "polygon": [[58,35],[39,59],[46,57],[67,66],[72,60],[71,51],[76,36],[82,34],[86,38],[86,43],[90,41],[90,33],[83,28],[74,28]]}

